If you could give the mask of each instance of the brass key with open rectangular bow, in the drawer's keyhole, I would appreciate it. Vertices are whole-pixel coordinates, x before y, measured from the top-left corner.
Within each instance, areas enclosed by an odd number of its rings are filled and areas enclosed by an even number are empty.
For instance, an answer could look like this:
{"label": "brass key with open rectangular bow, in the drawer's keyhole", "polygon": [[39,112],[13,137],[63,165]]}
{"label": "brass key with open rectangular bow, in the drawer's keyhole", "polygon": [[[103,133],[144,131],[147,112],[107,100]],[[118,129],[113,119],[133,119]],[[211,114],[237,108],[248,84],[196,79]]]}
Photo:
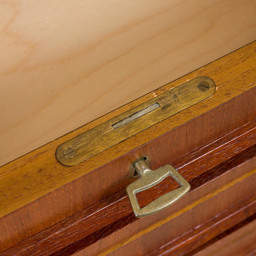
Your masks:
{"label": "brass key with open rectangular bow, in the drawer's keyhole", "polygon": [[[132,211],[137,218],[149,216],[164,210],[187,194],[190,189],[188,181],[170,164],[166,164],[156,170],[151,170],[145,159],[139,158],[133,166],[139,174],[139,179],[129,184],[125,190],[132,205]],[[180,184],[180,188],[176,188],[158,197],[143,208],[140,208],[136,193],[157,185],[169,175]]]}

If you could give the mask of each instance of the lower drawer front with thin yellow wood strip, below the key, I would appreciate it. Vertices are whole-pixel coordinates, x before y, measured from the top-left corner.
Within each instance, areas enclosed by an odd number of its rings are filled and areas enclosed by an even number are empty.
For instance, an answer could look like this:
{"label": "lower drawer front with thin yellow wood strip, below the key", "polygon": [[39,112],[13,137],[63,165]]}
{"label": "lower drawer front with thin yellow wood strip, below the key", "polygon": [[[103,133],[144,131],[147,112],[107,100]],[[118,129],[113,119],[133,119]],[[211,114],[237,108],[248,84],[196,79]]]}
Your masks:
{"label": "lower drawer front with thin yellow wood strip, below the key", "polygon": [[189,194],[163,212],[141,220],[125,217],[115,223],[119,228],[109,225],[53,255],[131,255],[132,252],[136,256],[153,256],[190,252],[256,212],[256,157],[235,168],[230,165],[232,161],[209,171],[210,180],[204,180],[206,175],[192,180]]}

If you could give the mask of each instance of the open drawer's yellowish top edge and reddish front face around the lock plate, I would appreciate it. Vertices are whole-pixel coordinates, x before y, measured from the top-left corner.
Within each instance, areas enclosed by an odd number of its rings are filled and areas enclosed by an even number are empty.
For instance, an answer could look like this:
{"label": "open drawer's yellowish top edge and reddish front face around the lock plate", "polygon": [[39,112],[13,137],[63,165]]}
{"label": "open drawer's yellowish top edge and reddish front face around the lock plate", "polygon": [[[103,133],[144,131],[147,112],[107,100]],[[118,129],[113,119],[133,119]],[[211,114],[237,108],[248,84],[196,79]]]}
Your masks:
{"label": "open drawer's yellowish top edge and reddish front face around the lock plate", "polygon": [[[255,43],[247,45],[156,90],[154,93],[159,95],[198,75],[216,78],[214,81],[219,86],[214,94],[216,98],[188,108],[90,161],[65,167],[57,162],[55,150],[59,143],[153,98],[154,94],[145,95],[2,167],[1,207],[4,212],[11,212],[0,219],[3,247],[7,249],[124,188],[131,182],[128,166],[138,156],[149,154],[152,168],[172,164],[253,120],[256,114],[256,88],[253,88],[256,81],[253,69],[255,48]],[[186,123],[188,120],[191,121]],[[147,143],[140,146],[144,142]],[[89,170],[94,171],[84,175]],[[65,185],[59,187],[61,184]]]}

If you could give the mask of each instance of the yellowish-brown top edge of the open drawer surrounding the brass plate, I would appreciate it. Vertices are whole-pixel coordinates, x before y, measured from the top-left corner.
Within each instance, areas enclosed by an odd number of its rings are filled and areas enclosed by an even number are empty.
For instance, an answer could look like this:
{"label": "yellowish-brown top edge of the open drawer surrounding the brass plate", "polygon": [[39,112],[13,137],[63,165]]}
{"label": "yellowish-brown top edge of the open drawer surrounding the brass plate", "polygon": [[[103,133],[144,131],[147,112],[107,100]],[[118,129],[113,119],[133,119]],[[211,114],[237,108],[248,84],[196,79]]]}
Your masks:
{"label": "yellowish-brown top edge of the open drawer surrounding the brass plate", "polygon": [[[0,168],[0,217],[254,88],[255,49],[256,42],[248,44],[4,165]],[[61,143],[196,76],[208,76],[215,82],[217,90],[211,98],[139,132],[76,166],[67,167],[56,160],[55,151]]]}

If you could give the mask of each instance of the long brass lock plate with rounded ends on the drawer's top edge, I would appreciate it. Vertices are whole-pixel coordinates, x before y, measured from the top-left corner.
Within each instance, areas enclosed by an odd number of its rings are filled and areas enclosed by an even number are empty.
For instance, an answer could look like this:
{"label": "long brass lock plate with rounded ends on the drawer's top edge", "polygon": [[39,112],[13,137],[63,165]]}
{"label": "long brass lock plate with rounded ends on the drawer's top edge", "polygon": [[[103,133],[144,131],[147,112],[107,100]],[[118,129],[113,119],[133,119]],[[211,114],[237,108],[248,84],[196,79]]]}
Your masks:
{"label": "long brass lock plate with rounded ends on the drawer's top edge", "polygon": [[[209,84],[207,91],[198,88],[199,83],[202,82]],[[67,166],[79,164],[148,127],[211,97],[215,89],[215,83],[211,78],[197,76],[60,144],[56,150],[56,158],[61,164]],[[67,148],[72,148],[76,152],[71,158],[67,158],[63,154]]]}

